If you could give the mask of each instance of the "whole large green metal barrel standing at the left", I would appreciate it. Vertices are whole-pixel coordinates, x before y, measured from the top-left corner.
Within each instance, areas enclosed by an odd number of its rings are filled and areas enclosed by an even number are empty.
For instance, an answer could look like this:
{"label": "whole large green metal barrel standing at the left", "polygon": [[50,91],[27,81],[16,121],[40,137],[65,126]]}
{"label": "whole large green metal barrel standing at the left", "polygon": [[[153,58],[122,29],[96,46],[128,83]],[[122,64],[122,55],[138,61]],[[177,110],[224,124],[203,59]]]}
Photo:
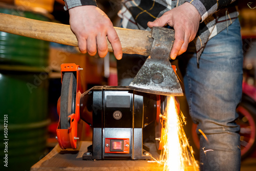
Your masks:
{"label": "whole large green metal barrel standing at the left", "polygon": [[[49,21],[29,11],[0,12]],[[30,170],[46,155],[48,58],[49,42],[0,32],[0,170]]]}

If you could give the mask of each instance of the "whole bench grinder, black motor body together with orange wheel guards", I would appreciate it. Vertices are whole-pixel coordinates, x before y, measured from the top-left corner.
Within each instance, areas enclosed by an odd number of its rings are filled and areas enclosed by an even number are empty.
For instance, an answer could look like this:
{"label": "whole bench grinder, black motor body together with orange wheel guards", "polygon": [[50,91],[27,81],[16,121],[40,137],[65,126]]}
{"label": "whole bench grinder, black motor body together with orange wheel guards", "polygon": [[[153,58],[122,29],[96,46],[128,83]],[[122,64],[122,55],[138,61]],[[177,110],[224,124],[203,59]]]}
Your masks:
{"label": "whole bench grinder, black motor body together with orange wheel guards", "polygon": [[[143,144],[148,139],[156,142],[157,149],[161,149],[162,144],[159,143],[161,140],[158,137],[162,137],[164,125],[163,119],[159,117],[164,114],[166,96],[138,92],[129,87],[112,86],[95,86],[82,93],[80,76],[76,74],[79,67],[74,63],[67,65],[74,66],[68,71],[77,76],[77,95],[72,101],[76,104],[75,113],[66,116],[69,118],[67,122],[70,123],[68,129],[61,129],[60,121],[63,117],[61,112],[59,113],[57,138],[62,149],[77,148],[73,135],[81,136],[81,120],[93,129],[92,145],[88,146],[88,152],[84,153],[83,159],[150,159],[150,149]],[[65,77],[66,72],[67,69],[62,71],[62,77]],[[71,94],[70,97],[74,95]],[[61,100],[58,103],[61,103]],[[149,125],[153,125],[154,129],[148,129],[152,127]],[[155,137],[159,140],[155,141]],[[69,141],[75,145],[66,145]]]}

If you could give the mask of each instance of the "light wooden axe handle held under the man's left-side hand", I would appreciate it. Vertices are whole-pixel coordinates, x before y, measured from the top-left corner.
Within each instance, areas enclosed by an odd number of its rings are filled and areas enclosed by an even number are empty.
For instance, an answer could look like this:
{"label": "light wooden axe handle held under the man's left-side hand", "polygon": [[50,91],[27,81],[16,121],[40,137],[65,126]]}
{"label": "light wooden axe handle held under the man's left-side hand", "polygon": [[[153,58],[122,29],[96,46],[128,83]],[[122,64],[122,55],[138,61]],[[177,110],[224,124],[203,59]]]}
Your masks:
{"label": "light wooden axe handle held under the man's left-side hand", "polygon": [[[40,20],[24,18],[0,13],[0,31],[37,38],[58,44],[78,46],[75,34],[69,25],[42,22]],[[148,56],[153,42],[150,31],[131,30],[115,27],[122,45],[123,53]],[[108,40],[108,39],[107,39]],[[113,52],[108,41],[108,50]]]}

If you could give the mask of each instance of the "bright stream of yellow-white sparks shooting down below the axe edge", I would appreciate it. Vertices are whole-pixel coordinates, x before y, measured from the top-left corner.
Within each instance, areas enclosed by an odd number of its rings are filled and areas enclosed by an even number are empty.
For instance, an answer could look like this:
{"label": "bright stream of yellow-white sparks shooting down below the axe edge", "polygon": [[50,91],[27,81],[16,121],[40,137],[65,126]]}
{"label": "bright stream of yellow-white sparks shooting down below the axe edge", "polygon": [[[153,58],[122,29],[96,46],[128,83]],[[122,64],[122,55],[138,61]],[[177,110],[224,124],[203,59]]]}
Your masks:
{"label": "bright stream of yellow-white sparks shooting down below the axe edge", "polygon": [[164,171],[199,170],[199,166],[193,155],[193,149],[190,147],[183,130],[185,117],[181,112],[178,114],[175,98],[173,96],[167,96],[166,98],[164,145],[159,163],[163,161]]}

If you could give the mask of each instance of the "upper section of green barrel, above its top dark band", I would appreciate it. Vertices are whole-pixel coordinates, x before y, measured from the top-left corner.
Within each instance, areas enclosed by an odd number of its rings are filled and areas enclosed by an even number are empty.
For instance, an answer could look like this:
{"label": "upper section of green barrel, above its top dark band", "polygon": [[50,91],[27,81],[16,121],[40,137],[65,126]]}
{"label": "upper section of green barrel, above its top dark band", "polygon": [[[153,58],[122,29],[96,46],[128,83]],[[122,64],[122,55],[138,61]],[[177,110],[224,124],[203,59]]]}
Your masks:
{"label": "upper section of green barrel, above its top dark band", "polygon": [[[46,16],[14,9],[1,9],[1,13],[14,14],[37,20],[49,20]],[[17,28],[18,29],[18,28]],[[27,66],[41,70],[47,67],[49,42],[0,32],[0,63],[6,66]]]}

